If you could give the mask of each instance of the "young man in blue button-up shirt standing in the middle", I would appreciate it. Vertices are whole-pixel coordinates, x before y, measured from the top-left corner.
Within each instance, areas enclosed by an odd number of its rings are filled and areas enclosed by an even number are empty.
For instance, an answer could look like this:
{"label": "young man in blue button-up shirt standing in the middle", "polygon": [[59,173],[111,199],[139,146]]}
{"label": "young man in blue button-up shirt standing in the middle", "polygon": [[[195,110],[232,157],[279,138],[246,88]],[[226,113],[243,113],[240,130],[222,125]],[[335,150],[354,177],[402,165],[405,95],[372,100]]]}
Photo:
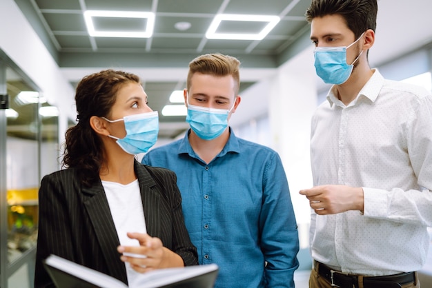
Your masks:
{"label": "young man in blue button-up shirt standing in the middle", "polygon": [[294,287],[299,241],[279,155],[237,138],[239,61],[204,54],[189,64],[184,100],[190,129],[142,163],[177,174],[199,264],[219,265],[215,287]]}

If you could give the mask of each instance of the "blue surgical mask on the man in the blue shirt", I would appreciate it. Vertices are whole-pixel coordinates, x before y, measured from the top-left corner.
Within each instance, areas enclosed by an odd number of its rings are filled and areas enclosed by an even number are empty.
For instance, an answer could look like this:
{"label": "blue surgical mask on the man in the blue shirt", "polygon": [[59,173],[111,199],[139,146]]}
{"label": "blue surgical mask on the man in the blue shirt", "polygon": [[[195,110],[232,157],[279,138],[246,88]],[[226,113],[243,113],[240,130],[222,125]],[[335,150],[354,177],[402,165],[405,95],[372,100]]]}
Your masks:
{"label": "blue surgical mask on the man in the blue shirt", "polygon": [[[187,99],[187,98],[186,98]],[[233,105],[234,107],[234,105]],[[188,114],[186,122],[189,123],[190,129],[203,140],[213,140],[219,137],[228,127],[228,115],[231,107],[227,109],[215,109],[190,105],[188,103]]]}

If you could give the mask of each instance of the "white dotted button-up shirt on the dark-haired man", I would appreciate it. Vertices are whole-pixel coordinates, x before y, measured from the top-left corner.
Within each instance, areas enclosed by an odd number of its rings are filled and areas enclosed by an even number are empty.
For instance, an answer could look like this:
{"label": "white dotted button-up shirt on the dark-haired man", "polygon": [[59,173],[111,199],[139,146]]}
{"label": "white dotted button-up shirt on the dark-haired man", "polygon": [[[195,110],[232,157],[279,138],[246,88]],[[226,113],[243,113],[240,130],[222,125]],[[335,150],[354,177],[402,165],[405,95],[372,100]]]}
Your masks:
{"label": "white dotted button-up shirt on the dark-haired man", "polygon": [[432,226],[432,96],[377,70],[348,106],[334,89],[313,116],[313,184],[363,187],[364,215],[312,211],[312,256],[348,273],[416,271]]}

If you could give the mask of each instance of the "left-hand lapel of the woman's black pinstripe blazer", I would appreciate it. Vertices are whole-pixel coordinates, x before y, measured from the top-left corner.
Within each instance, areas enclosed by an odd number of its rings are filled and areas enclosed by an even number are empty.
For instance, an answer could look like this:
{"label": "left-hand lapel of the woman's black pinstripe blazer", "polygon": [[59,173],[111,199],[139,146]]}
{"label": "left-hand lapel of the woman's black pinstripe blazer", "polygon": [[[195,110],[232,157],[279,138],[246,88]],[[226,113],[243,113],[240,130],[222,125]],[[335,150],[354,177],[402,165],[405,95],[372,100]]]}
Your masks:
{"label": "left-hand lapel of the woman's black pinstripe blazer", "polygon": [[87,214],[95,229],[110,275],[126,280],[126,268],[117,252],[117,246],[120,245],[119,238],[101,182],[90,188],[84,188],[82,192]]}

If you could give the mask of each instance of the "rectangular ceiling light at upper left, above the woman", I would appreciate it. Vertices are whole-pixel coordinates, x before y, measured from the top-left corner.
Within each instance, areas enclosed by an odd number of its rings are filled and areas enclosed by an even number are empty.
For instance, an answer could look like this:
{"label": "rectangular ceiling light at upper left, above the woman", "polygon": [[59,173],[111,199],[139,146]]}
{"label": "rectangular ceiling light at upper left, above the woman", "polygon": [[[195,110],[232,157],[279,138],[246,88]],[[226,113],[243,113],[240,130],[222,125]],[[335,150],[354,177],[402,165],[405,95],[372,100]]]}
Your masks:
{"label": "rectangular ceiling light at upper left, above the woman", "polygon": [[[147,19],[146,29],[142,32],[137,31],[97,31],[93,25],[92,17],[108,18],[142,18]],[[92,37],[130,37],[130,38],[150,38],[155,28],[155,13],[135,12],[135,11],[101,11],[87,10],[84,12],[88,34]]]}

